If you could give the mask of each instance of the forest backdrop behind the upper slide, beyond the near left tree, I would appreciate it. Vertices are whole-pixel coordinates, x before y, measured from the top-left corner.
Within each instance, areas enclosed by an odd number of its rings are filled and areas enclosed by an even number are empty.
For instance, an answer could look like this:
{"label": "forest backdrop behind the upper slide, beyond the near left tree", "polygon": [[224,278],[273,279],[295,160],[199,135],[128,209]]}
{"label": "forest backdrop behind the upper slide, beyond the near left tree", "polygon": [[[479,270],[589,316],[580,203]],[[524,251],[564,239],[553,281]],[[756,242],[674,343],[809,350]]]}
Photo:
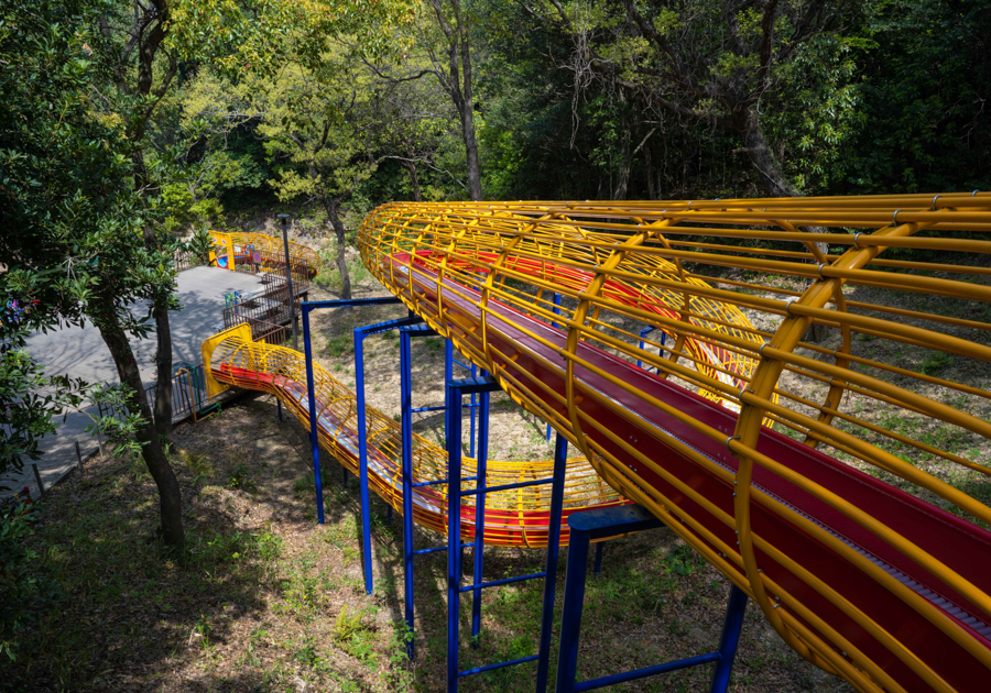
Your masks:
{"label": "forest backdrop behind the upper slide, beyond the near left tree", "polygon": [[[203,174],[172,191],[189,200],[182,222],[235,228],[277,208],[317,230],[342,215],[353,229],[403,199],[991,185],[988,2],[434,0],[414,10],[390,38],[402,52],[380,62],[340,35],[309,66],[232,80],[183,65],[154,124],[172,142],[208,123],[186,154]],[[770,163],[754,161],[761,146]]]}

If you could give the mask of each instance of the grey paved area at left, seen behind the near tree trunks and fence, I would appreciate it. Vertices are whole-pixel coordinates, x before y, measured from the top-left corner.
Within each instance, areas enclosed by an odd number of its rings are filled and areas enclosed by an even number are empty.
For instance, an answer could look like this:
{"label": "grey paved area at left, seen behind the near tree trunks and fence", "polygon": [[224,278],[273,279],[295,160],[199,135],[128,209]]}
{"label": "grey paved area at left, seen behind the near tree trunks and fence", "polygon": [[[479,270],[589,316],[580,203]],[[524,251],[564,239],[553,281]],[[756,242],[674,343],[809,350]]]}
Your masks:
{"label": "grey paved area at left, seen behind the near tree trunks and fence", "polygon": [[[233,290],[250,292],[259,286],[261,282],[255,276],[217,267],[194,267],[181,272],[177,296],[183,310],[168,314],[173,361],[198,364],[202,361],[200,343],[215,333],[214,327],[224,319],[224,295]],[[135,315],[139,311],[143,314],[144,308],[135,307]],[[131,341],[145,385],[155,381],[156,346],[154,330],[148,339]],[[74,378],[81,377],[88,383],[119,382],[110,352],[99,330],[90,323],[83,328],[68,327],[47,334],[33,334],[28,340],[28,350],[44,364],[48,375],[67,374]],[[37,466],[45,486],[76,464],[75,441],[79,441],[84,455],[96,449],[96,439],[86,432],[86,427],[91,422],[87,411],[95,409],[90,407],[69,413],[65,421],[58,421],[55,435],[42,440],[44,454],[37,461]],[[0,479],[0,486],[18,491],[29,486],[35,497],[39,493],[30,464],[20,474],[4,475]],[[10,493],[12,491],[0,492],[0,497]]]}

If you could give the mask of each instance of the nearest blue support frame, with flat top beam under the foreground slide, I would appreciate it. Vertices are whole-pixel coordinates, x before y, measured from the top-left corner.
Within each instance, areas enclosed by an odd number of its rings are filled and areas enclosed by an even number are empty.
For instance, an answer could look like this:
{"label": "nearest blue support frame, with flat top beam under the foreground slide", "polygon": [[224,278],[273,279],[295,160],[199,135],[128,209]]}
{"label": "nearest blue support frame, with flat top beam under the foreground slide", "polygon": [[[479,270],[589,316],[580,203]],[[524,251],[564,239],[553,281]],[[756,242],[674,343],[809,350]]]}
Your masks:
{"label": "nearest blue support frame, with flat top beam under the foreground slide", "polygon": [[570,538],[568,541],[568,568],[565,578],[564,606],[562,607],[556,693],[592,691],[624,681],[634,681],[644,676],[698,667],[710,662],[716,663],[716,670],[712,673],[709,691],[710,693],[726,693],[730,672],[733,668],[733,658],[737,654],[737,644],[740,640],[740,631],[743,628],[743,614],[747,609],[747,594],[737,585],[733,585],[732,590],[730,590],[726,620],[722,625],[722,636],[719,641],[719,649],[715,652],[601,676],[580,683],[575,681],[578,669],[578,638],[581,630],[581,609],[585,601],[585,576],[589,541],[631,531],[654,529],[661,526],[661,520],[639,505],[587,510],[575,513],[568,517]]}

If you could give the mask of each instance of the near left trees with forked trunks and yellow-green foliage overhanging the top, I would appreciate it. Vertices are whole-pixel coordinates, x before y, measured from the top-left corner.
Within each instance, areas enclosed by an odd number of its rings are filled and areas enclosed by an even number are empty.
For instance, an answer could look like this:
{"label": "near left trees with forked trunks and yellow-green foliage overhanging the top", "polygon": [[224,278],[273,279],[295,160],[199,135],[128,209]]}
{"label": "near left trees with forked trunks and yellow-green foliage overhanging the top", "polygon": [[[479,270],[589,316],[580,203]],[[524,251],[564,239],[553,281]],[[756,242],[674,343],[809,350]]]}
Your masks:
{"label": "near left trees with forked trunks and yellow-green foliage overhanging the top", "polygon": [[[377,0],[0,2],[0,287],[7,300],[32,308],[11,326],[4,319],[0,336],[0,402],[15,405],[4,421],[4,465],[35,453],[37,436],[51,428],[45,405],[67,392],[44,381],[18,349],[22,328],[88,321],[138,417],[162,537],[183,546],[182,498],[166,449],[172,388],[157,387],[149,406],[130,338],[155,332],[157,378],[171,382],[168,311],[179,308],[173,258],[182,243],[172,231],[193,196],[177,191],[195,190],[197,180],[204,187],[204,172],[218,167],[197,161],[199,120],[167,106],[198,70],[236,80],[285,63],[318,63],[323,36],[333,31],[361,37],[366,55],[389,55],[400,44],[377,30],[406,14],[402,1]],[[46,385],[56,399],[33,398]]]}

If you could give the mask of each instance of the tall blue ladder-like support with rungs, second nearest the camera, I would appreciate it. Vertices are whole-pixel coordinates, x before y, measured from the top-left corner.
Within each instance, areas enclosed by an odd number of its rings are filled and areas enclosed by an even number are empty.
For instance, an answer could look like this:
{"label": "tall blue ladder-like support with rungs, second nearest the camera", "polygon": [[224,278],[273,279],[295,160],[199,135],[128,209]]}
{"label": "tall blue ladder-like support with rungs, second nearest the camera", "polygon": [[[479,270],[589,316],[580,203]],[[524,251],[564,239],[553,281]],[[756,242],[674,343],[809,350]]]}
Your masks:
{"label": "tall blue ladder-like support with rungs, second nearest the camera", "polygon": [[[498,382],[492,377],[473,377],[447,383],[447,691],[455,693],[458,690],[458,680],[471,674],[512,667],[524,662],[537,662],[536,691],[543,693],[547,686],[548,656],[551,650],[551,628],[554,617],[554,587],[557,581],[557,557],[560,543],[560,517],[564,506],[564,479],[567,464],[567,440],[563,436],[557,437],[554,447],[554,471],[551,479],[540,479],[514,484],[488,486],[486,483],[486,457],[488,444],[479,447],[478,475],[473,490],[462,491],[461,483],[461,397],[478,394],[488,395],[499,389]],[[488,413],[487,397],[482,399],[482,416],[480,422],[480,442],[482,435],[488,433],[488,421],[484,416]],[[482,552],[484,550],[484,495],[493,491],[509,491],[524,486],[551,484],[551,513],[548,517],[547,532],[547,562],[545,570],[529,575],[504,578],[491,582],[482,581]],[[475,506],[475,541],[470,544],[461,542],[461,498],[477,496]],[[475,571],[472,584],[461,586],[461,547],[473,546]],[[541,618],[541,639],[536,654],[521,657],[504,662],[486,664],[464,671],[458,670],[458,616],[460,612],[460,595],[465,592],[472,593],[472,644],[478,642],[478,628],[480,625],[481,591],[488,587],[507,585],[526,580],[544,579],[544,608]]]}

